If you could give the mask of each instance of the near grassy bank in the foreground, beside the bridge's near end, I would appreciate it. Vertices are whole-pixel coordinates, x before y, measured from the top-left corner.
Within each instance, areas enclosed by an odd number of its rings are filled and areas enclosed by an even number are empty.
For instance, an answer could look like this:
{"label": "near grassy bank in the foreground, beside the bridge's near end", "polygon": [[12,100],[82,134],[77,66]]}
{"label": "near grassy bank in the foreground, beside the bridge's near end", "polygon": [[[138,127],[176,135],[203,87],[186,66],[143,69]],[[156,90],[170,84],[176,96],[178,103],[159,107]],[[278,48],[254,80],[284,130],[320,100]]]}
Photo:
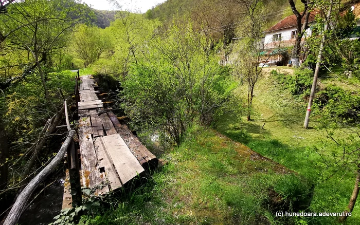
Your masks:
{"label": "near grassy bank in the foreground, beside the bridge's near end", "polygon": [[[278,183],[288,180],[288,176],[295,180],[302,179],[298,175],[291,175],[284,166],[212,129],[192,127],[186,141],[161,159],[165,165],[155,171],[146,184],[132,194],[122,196],[116,207],[105,210],[101,216],[83,216],[81,223],[294,222],[293,218],[275,217],[268,193],[275,188],[284,196],[293,198],[294,193],[288,191],[292,188],[281,190]],[[306,187],[298,188],[301,195]]]}

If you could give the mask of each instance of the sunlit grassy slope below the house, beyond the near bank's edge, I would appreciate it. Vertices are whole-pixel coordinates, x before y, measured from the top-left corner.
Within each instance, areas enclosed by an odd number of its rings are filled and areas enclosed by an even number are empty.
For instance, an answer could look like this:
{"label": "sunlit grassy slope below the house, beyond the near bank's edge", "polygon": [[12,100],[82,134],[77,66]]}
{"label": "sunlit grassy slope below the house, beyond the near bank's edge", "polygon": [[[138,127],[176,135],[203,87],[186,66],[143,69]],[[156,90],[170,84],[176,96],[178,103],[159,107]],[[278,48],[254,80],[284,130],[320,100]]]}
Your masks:
{"label": "sunlit grassy slope below the house, beyond the near bank's edge", "polygon": [[[244,87],[238,91],[245,92]],[[330,175],[323,170],[325,165],[321,163],[314,147],[331,151],[334,145],[322,130],[302,128],[306,108],[302,99],[292,97],[287,91],[279,92],[267,77],[256,87],[254,106],[257,112],[253,117],[254,121],[247,122],[242,118],[241,123],[239,118],[227,115],[218,124],[218,130],[311,180],[320,179],[321,174],[323,177]],[[264,129],[261,129],[264,123]],[[314,118],[310,125],[316,126]],[[250,136],[244,136],[240,127]],[[317,184],[311,205],[313,211],[343,211],[348,204],[353,183],[353,173],[339,172],[326,182]],[[355,205],[353,216],[349,218],[350,224],[358,224],[360,221],[359,206],[358,203]],[[334,219],[327,222],[334,222]]]}

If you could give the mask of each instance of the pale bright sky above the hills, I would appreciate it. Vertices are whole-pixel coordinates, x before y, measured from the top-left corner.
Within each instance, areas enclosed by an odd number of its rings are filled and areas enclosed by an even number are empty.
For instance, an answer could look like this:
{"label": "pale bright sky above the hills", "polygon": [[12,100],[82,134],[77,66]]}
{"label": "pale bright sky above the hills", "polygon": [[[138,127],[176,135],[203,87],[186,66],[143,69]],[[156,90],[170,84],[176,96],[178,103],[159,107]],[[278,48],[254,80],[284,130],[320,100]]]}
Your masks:
{"label": "pale bright sky above the hills", "polygon": [[[114,1],[114,0],[111,0]],[[111,4],[109,0],[82,0],[88,6],[91,5],[94,9],[100,10],[119,10],[114,4]],[[122,6],[122,10],[131,10],[131,11],[140,11],[146,12],[148,9],[151,9],[153,6],[156,6],[159,3],[163,3],[166,0],[117,0],[118,3]]]}

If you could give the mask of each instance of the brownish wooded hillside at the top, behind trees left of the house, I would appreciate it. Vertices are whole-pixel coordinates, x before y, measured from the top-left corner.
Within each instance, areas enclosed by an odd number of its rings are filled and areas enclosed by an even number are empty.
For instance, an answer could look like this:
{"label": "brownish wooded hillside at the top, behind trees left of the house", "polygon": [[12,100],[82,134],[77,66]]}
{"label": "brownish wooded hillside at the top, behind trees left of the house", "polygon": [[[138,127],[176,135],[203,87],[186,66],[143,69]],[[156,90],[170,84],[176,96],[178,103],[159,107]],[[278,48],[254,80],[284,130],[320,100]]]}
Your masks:
{"label": "brownish wooded hillside at the top, behind trees left of the house", "polygon": [[[297,2],[297,5],[301,4]],[[236,28],[240,26],[245,10],[241,1],[168,0],[149,9],[145,17],[149,20],[157,18],[163,22],[165,29],[171,25],[174,16],[180,20],[191,18],[194,29],[210,34],[216,41],[224,40],[227,45],[236,37]],[[268,15],[268,26],[281,20],[284,13],[292,13],[287,0],[265,1],[263,11]]]}

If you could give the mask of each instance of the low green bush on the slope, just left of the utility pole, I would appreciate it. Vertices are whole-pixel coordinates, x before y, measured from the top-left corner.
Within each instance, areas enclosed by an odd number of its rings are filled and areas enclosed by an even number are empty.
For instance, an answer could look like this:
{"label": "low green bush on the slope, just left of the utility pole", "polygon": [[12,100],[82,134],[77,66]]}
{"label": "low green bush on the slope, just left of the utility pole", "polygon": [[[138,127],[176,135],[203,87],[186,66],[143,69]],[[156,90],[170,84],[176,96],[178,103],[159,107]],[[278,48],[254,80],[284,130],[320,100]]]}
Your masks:
{"label": "low green bush on the slope, just left of the utility pole", "polygon": [[311,69],[296,69],[294,76],[271,71],[275,80],[282,85],[283,89],[289,89],[293,95],[309,96],[313,83],[314,73]]}

